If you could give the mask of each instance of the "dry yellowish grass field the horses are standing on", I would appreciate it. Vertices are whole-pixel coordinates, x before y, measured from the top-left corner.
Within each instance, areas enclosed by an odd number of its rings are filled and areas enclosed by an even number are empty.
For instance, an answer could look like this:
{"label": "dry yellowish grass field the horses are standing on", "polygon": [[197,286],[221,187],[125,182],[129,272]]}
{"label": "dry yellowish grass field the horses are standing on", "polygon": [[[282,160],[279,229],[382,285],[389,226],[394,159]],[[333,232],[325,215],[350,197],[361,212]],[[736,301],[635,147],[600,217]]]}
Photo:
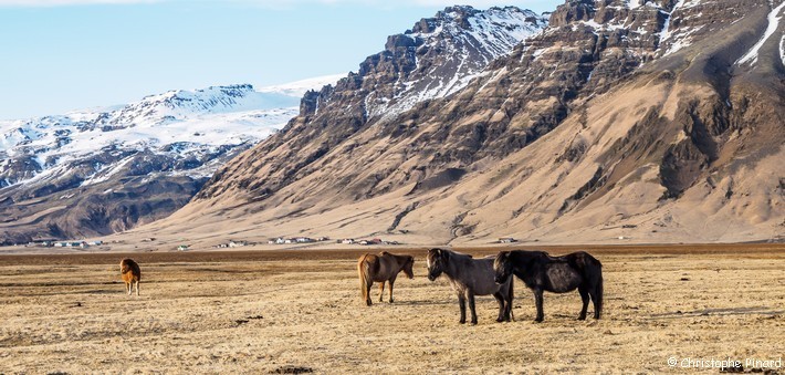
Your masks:
{"label": "dry yellowish grass field the horses are standing on", "polygon": [[126,254],[2,256],[0,373],[718,373],[667,361],[785,356],[783,246],[589,249],[603,320],[576,321],[573,292],[546,294],[533,323],[516,280],[516,321],[496,323],[483,296],[475,326],[458,324],[421,249],[393,250],[417,257],[415,279],[401,274],[393,304],[375,284],[365,306],[367,250],[130,254],[139,298],[124,293]]}

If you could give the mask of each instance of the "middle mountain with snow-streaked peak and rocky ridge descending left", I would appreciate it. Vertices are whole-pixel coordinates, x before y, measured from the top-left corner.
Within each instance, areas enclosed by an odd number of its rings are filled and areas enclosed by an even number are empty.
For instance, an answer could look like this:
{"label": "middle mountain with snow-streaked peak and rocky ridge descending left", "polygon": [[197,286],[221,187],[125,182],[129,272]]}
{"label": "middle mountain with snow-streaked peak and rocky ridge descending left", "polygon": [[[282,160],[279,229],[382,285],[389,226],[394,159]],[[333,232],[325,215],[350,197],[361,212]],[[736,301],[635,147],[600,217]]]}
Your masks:
{"label": "middle mountain with snow-streaked peak and rocky ridge descending left", "polygon": [[[362,62],[357,73],[306,93],[300,115],[280,135],[219,170],[199,198],[236,186],[261,195],[275,191],[308,174],[313,162],[324,160],[337,146],[352,144],[346,140],[359,133],[381,127],[405,132],[394,122],[399,113],[417,113],[418,105],[452,95],[472,77],[488,74],[488,64],[512,53],[545,24],[542,17],[514,7],[451,7],[420,20],[389,37],[385,50]],[[236,173],[237,180],[218,183]]]}

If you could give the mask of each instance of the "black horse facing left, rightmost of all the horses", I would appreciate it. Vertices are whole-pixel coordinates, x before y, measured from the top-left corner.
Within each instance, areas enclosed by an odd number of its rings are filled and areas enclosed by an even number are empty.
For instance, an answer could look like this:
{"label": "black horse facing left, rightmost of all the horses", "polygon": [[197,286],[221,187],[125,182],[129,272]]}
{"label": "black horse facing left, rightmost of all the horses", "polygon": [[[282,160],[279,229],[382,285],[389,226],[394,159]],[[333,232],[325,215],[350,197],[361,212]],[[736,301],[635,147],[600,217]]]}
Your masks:
{"label": "black horse facing left, rightmost of all the horses", "polygon": [[543,291],[566,293],[577,289],[584,303],[578,320],[586,319],[589,296],[594,319],[599,319],[603,312],[603,264],[585,251],[563,257],[551,257],[545,251],[502,251],[496,254],[493,271],[498,283],[509,281],[514,273],[534,292],[535,322],[544,319]]}

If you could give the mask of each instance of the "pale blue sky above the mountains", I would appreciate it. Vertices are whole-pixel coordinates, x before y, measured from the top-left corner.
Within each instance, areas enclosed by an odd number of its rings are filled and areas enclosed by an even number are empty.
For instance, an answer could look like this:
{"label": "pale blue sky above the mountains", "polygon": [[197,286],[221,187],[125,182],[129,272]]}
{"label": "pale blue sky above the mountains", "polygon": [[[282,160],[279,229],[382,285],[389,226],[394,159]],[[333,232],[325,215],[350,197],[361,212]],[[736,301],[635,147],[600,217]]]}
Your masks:
{"label": "pale blue sky above the mountains", "polygon": [[[0,0],[0,119],[357,71],[456,1]],[[537,12],[559,0],[464,1]]]}

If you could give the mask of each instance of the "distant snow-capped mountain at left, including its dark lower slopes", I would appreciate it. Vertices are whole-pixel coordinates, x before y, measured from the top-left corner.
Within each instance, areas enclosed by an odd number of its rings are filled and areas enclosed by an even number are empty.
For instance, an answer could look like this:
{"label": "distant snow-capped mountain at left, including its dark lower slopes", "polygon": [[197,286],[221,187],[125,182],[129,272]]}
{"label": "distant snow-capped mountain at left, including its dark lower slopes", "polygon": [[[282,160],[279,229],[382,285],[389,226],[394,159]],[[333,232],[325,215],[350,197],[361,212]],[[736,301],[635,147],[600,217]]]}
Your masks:
{"label": "distant snow-capped mountain at left, including its dark lower slopes", "polygon": [[0,122],[2,240],[107,235],[165,217],[218,166],[295,116],[306,90],[332,82],[178,90]]}

